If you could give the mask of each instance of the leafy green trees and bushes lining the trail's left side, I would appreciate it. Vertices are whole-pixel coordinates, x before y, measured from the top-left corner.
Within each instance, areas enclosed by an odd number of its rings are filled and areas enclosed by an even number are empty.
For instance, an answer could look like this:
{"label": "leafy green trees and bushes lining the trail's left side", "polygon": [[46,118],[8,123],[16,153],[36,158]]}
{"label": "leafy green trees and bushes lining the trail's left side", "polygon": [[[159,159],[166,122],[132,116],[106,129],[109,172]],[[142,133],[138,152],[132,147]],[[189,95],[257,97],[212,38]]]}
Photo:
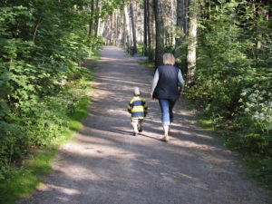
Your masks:
{"label": "leafy green trees and bushes lining the trail's left side", "polygon": [[[0,180],[29,150],[61,140],[69,125],[82,92],[67,87],[92,75],[78,66],[90,43],[87,5],[0,0]],[[99,49],[102,40],[92,44]]]}

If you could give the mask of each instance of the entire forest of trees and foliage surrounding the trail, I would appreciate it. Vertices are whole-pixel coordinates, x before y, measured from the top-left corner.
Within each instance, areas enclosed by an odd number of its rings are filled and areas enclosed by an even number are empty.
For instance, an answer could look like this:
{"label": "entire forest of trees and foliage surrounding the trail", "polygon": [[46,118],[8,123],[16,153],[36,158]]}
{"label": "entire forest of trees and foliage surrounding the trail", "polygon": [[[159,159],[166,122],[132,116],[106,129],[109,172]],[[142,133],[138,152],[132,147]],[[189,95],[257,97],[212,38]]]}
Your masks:
{"label": "entire forest of trees and foliage surrounding the trail", "polygon": [[[272,2],[269,0],[0,0],[0,180],[15,160],[62,137],[78,95],[67,87],[103,44],[174,53],[184,95],[224,142],[272,179]],[[57,111],[56,111],[57,110]]]}

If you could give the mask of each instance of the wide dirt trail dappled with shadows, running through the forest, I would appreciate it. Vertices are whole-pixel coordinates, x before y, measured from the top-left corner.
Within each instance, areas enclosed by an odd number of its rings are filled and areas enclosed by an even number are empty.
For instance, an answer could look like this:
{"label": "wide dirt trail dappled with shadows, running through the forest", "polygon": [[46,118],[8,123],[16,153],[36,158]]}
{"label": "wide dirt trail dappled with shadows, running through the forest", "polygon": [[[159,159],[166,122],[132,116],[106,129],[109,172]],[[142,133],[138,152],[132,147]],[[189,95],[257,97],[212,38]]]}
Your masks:
{"label": "wide dirt trail dappled with shadows, running through the forest", "polygon": [[[238,155],[202,131],[183,102],[175,106],[170,142],[160,141],[160,107],[151,101],[151,72],[116,47],[104,47],[90,116],[53,161],[55,173],[31,199],[36,204],[261,204],[265,190],[243,178]],[[150,114],[140,136],[126,111],[139,85]]]}

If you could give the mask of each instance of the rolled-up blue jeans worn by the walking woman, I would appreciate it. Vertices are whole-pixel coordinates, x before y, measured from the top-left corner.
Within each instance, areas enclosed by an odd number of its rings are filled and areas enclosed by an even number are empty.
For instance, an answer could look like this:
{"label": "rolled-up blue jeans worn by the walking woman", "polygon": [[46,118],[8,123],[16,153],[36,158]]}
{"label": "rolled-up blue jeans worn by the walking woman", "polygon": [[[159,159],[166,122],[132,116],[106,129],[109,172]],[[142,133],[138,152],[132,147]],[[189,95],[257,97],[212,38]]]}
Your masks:
{"label": "rolled-up blue jeans worn by the walking woman", "polygon": [[174,121],[173,108],[175,100],[159,99],[162,125],[170,125]]}

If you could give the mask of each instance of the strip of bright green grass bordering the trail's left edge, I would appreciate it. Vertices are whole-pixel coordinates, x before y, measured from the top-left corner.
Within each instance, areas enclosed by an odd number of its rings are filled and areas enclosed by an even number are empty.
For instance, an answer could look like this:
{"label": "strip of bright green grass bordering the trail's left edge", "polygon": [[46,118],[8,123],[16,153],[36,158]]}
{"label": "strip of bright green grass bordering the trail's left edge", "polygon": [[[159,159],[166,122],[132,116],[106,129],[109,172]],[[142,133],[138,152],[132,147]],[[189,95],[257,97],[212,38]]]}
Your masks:
{"label": "strip of bright green grass bordering the trail's left edge", "polygon": [[[64,95],[64,98],[72,97],[76,101],[70,110],[72,112],[69,112],[68,115],[67,110],[62,109],[63,116],[67,119],[65,121],[67,127],[63,129],[63,126],[59,126],[62,129],[56,132],[58,137],[51,141],[52,145],[49,148],[43,147],[42,150],[35,151],[34,156],[28,156],[26,165],[5,173],[6,179],[0,183],[0,202],[5,200],[5,203],[13,204],[17,199],[31,195],[34,189],[43,182],[44,174],[52,173],[51,160],[57,154],[58,146],[70,139],[73,133],[82,127],[83,118],[89,113],[90,97],[87,94],[91,91],[89,83],[92,80],[92,72],[85,68],[82,68],[81,71],[83,73],[81,79],[69,83],[65,91],[55,97],[57,101],[61,101]],[[54,103],[57,104],[57,102]],[[59,105],[56,105],[55,109],[52,107],[52,112],[58,112],[60,115],[59,107]],[[49,132],[48,136],[50,135]],[[48,146],[49,143],[46,145]]]}

